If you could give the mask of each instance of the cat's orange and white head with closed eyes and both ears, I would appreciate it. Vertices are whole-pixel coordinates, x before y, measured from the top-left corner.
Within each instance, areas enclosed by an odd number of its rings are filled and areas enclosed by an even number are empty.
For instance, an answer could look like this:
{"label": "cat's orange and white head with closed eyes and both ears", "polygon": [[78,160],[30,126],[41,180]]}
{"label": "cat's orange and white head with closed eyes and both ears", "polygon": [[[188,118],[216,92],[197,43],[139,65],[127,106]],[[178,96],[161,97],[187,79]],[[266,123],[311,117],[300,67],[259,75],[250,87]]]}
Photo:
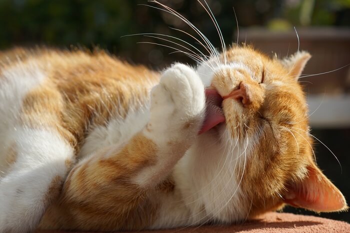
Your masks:
{"label": "cat's orange and white head with closed eyes and both ears", "polygon": [[242,196],[251,201],[250,215],[283,203],[317,212],[347,208],[341,192],[315,165],[305,94],[298,82],[309,58],[309,53],[297,52],[281,60],[234,46],[197,69],[206,87],[221,96],[225,118],[204,135],[218,133],[217,143],[240,146],[244,169],[234,172]]}

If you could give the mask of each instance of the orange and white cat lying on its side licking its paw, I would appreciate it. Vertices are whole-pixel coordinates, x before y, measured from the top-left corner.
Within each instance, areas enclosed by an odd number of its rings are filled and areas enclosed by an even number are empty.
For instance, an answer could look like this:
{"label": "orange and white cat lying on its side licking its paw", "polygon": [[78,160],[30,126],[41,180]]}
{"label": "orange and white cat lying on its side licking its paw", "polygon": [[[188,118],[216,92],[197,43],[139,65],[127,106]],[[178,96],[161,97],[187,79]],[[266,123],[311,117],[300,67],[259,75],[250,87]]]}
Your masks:
{"label": "orange and white cat lying on its side licking its paw", "polygon": [[347,208],[313,160],[310,55],[232,46],[163,72],[104,52],[0,54],[0,232],[243,221]]}

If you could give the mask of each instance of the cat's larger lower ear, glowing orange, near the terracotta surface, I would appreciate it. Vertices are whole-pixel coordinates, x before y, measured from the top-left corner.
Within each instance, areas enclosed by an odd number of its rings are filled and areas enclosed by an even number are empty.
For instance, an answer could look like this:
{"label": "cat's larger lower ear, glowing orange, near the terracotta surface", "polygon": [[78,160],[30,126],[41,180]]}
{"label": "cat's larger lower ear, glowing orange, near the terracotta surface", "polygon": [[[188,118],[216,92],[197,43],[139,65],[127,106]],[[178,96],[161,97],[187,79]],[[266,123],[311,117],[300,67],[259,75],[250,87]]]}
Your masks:
{"label": "cat's larger lower ear, glowing orange, near the terracotta surface", "polygon": [[314,165],[308,165],[306,177],[292,183],[284,194],[284,202],[316,212],[347,209],[344,196],[334,184]]}

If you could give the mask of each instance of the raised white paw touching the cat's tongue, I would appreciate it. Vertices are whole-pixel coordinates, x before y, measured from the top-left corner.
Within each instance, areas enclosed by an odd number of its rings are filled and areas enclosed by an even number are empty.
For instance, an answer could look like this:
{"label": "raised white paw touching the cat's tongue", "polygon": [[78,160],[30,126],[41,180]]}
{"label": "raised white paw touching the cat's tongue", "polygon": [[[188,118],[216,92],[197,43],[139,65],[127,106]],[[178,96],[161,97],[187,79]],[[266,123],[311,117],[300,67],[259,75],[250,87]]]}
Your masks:
{"label": "raised white paw touching the cat's tongue", "polygon": [[197,135],[204,110],[204,86],[199,76],[191,67],[177,63],[164,71],[152,89],[147,129],[154,131],[157,141],[188,140]]}

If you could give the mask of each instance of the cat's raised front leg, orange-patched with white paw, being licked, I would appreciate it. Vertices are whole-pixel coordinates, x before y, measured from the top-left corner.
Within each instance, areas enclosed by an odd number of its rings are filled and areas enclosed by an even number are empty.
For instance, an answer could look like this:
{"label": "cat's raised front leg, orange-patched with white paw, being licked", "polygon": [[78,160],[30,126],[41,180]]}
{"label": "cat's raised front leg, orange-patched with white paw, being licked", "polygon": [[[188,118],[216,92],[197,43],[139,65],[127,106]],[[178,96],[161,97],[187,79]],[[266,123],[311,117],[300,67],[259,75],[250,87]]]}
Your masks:
{"label": "cat's raised front leg, orange-patched with white paw, being licked", "polygon": [[[175,64],[165,70],[151,91],[148,123],[122,146],[101,148],[75,165],[61,197],[48,207],[40,227],[150,227],[156,200],[149,196],[168,178],[197,136],[204,103],[204,87],[192,68]],[[103,214],[106,209],[108,215]]]}

